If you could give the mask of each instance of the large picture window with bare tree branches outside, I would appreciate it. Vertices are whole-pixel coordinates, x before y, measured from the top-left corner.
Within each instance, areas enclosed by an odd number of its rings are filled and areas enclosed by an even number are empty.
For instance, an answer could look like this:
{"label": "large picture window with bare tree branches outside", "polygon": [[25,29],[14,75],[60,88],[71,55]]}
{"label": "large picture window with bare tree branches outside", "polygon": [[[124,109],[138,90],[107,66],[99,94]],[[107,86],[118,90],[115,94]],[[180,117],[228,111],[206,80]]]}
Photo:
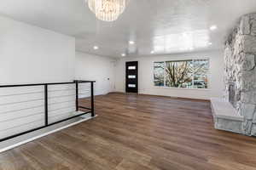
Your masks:
{"label": "large picture window with bare tree branches outside", "polygon": [[154,62],[154,86],[208,88],[209,59]]}

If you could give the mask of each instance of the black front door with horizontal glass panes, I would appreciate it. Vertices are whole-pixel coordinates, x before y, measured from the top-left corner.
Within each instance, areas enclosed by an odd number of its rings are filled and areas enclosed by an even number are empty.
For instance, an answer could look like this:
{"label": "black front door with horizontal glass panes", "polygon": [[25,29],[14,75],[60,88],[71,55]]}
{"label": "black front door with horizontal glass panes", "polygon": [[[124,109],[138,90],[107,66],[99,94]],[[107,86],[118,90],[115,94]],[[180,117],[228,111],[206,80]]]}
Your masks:
{"label": "black front door with horizontal glass panes", "polygon": [[126,62],[126,93],[137,93],[137,61]]}

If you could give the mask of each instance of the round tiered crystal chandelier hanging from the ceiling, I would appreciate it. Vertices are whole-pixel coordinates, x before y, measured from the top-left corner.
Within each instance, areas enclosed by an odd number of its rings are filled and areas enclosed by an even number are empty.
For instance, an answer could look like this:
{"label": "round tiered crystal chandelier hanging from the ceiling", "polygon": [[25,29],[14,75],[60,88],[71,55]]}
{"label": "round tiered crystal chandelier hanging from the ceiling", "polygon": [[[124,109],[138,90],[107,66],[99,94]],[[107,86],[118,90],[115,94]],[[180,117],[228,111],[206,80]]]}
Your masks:
{"label": "round tiered crystal chandelier hanging from the ceiling", "polygon": [[128,0],[88,0],[88,6],[97,19],[113,21],[125,11],[127,2]]}

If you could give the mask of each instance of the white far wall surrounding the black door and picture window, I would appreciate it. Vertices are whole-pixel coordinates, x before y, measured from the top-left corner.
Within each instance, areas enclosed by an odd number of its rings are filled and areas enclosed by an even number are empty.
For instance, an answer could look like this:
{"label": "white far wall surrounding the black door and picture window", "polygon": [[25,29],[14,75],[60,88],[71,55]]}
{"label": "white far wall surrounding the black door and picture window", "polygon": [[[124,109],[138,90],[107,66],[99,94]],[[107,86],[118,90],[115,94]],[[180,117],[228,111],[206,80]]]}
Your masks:
{"label": "white far wall surrounding the black door and picture window", "polygon": [[[156,88],[153,82],[154,61],[176,59],[210,59],[209,89]],[[125,92],[125,61],[139,62],[139,94],[165,95],[193,99],[222,97],[224,90],[224,54],[221,51],[209,51],[191,54],[172,54],[119,59],[116,65],[115,91]]]}

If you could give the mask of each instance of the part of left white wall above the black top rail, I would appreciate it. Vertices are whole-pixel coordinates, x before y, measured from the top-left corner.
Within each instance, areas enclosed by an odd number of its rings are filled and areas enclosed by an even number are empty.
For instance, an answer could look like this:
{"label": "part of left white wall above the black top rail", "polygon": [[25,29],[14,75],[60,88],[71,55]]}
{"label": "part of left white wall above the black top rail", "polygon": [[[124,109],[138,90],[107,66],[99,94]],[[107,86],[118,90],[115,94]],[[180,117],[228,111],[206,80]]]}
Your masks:
{"label": "part of left white wall above the black top rail", "polygon": [[74,79],[75,38],[0,16],[0,84]]}

